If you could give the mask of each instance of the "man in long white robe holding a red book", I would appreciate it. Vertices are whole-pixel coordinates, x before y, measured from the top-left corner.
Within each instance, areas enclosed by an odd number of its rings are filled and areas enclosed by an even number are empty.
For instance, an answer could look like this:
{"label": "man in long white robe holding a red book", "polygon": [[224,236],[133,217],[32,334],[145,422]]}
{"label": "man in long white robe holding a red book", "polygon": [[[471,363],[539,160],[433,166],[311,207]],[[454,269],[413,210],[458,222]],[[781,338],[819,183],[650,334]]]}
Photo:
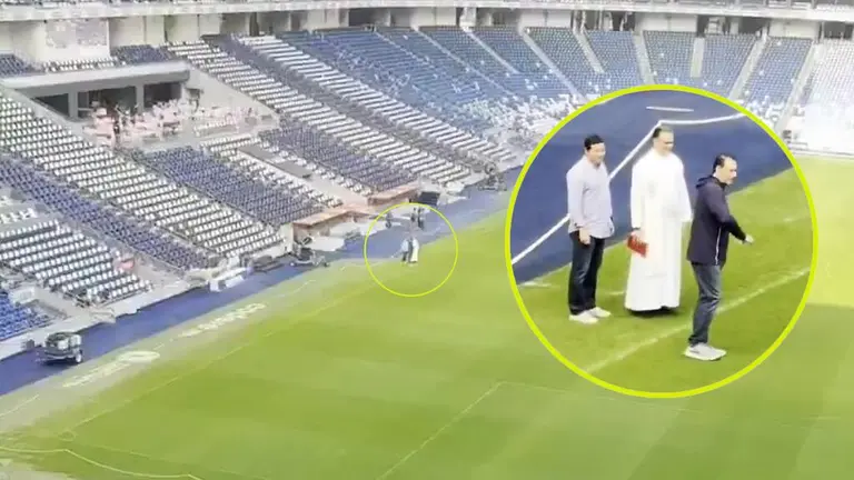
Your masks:
{"label": "man in long white robe holding a red book", "polygon": [[682,232],[692,208],[685,167],[673,153],[673,130],[656,128],[653,148],[632,168],[632,234],[647,244],[632,252],[625,307],[635,313],[676,309],[682,292]]}

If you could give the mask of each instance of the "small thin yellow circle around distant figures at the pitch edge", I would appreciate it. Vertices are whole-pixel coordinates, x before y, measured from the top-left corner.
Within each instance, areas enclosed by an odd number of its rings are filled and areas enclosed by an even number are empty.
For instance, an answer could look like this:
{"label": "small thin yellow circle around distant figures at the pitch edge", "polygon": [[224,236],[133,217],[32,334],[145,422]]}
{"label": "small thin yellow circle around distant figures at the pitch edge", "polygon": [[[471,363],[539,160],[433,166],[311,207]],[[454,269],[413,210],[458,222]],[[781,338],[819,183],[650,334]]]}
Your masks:
{"label": "small thin yellow circle around distant figures at the pitch edge", "polygon": [[[424,289],[421,291],[407,292],[407,291],[400,291],[397,288],[389,287],[385,281],[383,281],[380,279],[380,276],[377,274],[377,271],[375,270],[374,266],[371,266],[371,262],[370,262],[371,259],[370,259],[370,256],[368,254],[368,243],[370,242],[371,232],[375,230],[378,221],[385,219],[386,216],[389,212],[394,211],[394,210],[410,209],[410,208],[423,208],[423,209],[426,209],[429,212],[431,212],[433,214],[435,214],[436,217],[438,217],[447,226],[448,230],[450,230],[450,237],[454,239],[454,260],[451,261],[451,264],[448,268],[447,273],[445,273],[445,274],[439,273],[438,277],[440,277],[440,280],[438,282],[436,282],[431,287],[428,287],[428,288],[426,288],[426,289]],[[423,242],[421,242],[421,248],[424,248],[424,243]],[[459,260],[459,240],[457,238],[457,232],[454,230],[454,226],[450,223],[450,220],[448,220],[448,218],[443,212],[440,212],[437,208],[435,208],[433,206],[428,206],[428,204],[424,204],[424,203],[415,203],[415,202],[398,203],[398,204],[394,204],[394,206],[383,210],[374,219],[374,221],[370,222],[370,226],[368,226],[368,231],[365,234],[365,242],[363,244],[363,257],[365,259],[365,267],[368,270],[368,276],[370,276],[370,278],[383,290],[385,290],[385,291],[387,291],[387,292],[389,292],[389,293],[391,293],[391,294],[394,294],[396,297],[403,297],[403,298],[425,297],[425,296],[428,296],[428,294],[439,290],[454,276],[454,270],[456,270],[457,261]],[[407,267],[404,267],[404,266],[395,264],[395,263],[400,263],[400,261],[398,261],[396,259],[386,259],[386,260],[388,260],[388,261],[385,262],[383,266],[380,266],[384,271],[394,271],[394,269],[396,269],[396,268],[407,268]],[[430,259],[429,258],[427,258],[427,259],[423,258],[420,263],[426,266],[421,271],[424,271],[424,270],[431,271],[431,270],[435,270],[437,268],[441,268],[440,266],[430,263]],[[420,266],[419,267],[415,267],[411,270],[411,276],[418,276],[419,274],[419,271],[418,271],[419,268],[420,268]],[[396,276],[394,276],[394,278],[401,278],[401,277],[396,274]],[[426,277],[421,276],[420,278],[424,279]]]}

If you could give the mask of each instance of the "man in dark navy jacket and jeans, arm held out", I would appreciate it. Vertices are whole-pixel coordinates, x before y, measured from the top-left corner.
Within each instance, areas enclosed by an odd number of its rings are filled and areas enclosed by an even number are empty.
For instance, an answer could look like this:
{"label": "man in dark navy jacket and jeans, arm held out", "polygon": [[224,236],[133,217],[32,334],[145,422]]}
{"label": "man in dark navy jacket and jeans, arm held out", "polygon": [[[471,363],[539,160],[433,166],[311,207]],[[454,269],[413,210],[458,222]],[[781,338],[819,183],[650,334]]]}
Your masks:
{"label": "man in dark navy jacket and jeans, arm held out", "polygon": [[725,350],[708,344],[708,329],[721,302],[721,271],[726,263],[726,251],[732,234],[751,244],[753,238],[742,230],[729,212],[726,187],[737,176],[737,162],[727,154],[715,157],[713,172],[697,182],[694,221],[688,240],[688,261],[697,280],[699,299],[694,310],[694,331],[688,338],[685,356],[697,360],[718,360]]}

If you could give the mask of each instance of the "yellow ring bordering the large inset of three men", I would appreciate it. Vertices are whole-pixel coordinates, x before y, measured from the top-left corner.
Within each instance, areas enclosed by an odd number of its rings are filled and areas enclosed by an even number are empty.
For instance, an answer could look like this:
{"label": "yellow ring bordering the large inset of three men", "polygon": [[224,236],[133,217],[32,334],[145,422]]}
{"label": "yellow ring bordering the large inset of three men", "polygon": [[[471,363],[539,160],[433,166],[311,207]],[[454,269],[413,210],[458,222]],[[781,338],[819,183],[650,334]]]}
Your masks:
{"label": "yellow ring bordering the large inset of three men", "polygon": [[[560,129],[563,129],[567,123],[573,121],[576,117],[584,113],[585,111],[592,109],[593,107],[596,107],[597,104],[604,103],[608,100],[616,99],[618,97],[623,97],[625,94],[630,93],[642,93],[642,92],[651,92],[651,91],[681,91],[685,93],[693,93],[699,97],[705,97],[707,99],[716,100],[721,103],[724,103],[726,106],[729,106],[735,111],[744,113],[745,117],[749,118],[754,121],[754,123],[758,124],[765,133],[768,134],[776,143],[777,147],[785,153],[786,158],[788,158],[788,161],[792,163],[792,167],[795,170],[795,174],[797,176],[797,179],[801,181],[801,186],[804,189],[804,194],[806,194],[806,202],[810,209],[810,220],[813,228],[813,256],[812,260],[810,262],[810,276],[806,281],[806,288],[804,289],[804,294],[801,298],[801,303],[798,303],[797,309],[795,309],[795,313],[792,317],[792,320],[790,320],[786,328],[783,330],[783,332],[777,337],[777,339],[774,341],[774,343],[771,344],[771,347],[765,350],[756,360],[747,364],[746,367],[742,368],[737,372],[718,380],[714,383],[709,383],[705,387],[697,387],[689,390],[683,390],[683,391],[665,391],[665,392],[647,392],[643,390],[635,390],[629,389],[625,387],[619,387],[613,383],[609,383],[605,380],[598,379],[595,376],[587,373],[584,371],[584,369],[579,368],[572,361],[569,361],[566,357],[564,357],[546,338],[545,334],[539,330],[537,324],[534,322],[534,320],[530,318],[530,313],[525,308],[525,302],[522,299],[522,294],[519,293],[519,288],[516,284],[516,276],[513,272],[513,256],[510,253],[510,231],[513,227],[513,212],[516,207],[516,199],[519,194],[519,189],[522,187],[522,182],[525,180],[525,176],[528,172],[528,169],[530,169],[532,163],[534,160],[536,160],[537,156],[539,154],[540,150],[548,144],[548,142],[552,140],[552,138],[557,134]],[[534,149],[534,151],[530,153],[528,159],[525,161],[525,166],[522,168],[522,172],[519,172],[519,177],[516,180],[516,186],[513,189],[513,192],[510,193],[510,200],[509,206],[507,208],[507,218],[505,220],[505,249],[504,249],[504,256],[505,256],[505,263],[507,266],[507,276],[510,280],[510,289],[513,290],[513,296],[516,299],[516,303],[519,307],[519,310],[522,311],[523,317],[525,317],[525,321],[528,323],[528,327],[534,332],[534,334],[539,339],[539,342],[543,343],[543,346],[548,350],[552,356],[557,359],[560,363],[563,363],[566,368],[574,371],[579,377],[584,378],[585,380],[597,384],[604,389],[623,393],[625,396],[632,396],[632,397],[640,397],[640,398],[648,398],[648,399],[679,399],[679,398],[687,398],[693,397],[701,393],[706,393],[713,390],[717,390],[721,387],[724,387],[726,384],[729,384],[742,377],[749,373],[753,369],[762,364],[765,360],[771,357],[774,351],[779,348],[779,346],[783,343],[783,341],[788,337],[788,334],[792,332],[792,330],[795,328],[795,324],[801,319],[801,314],[804,311],[804,308],[806,307],[806,301],[810,297],[810,292],[813,288],[813,280],[815,279],[815,268],[818,260],[818,221],[816,219],[815,213],[815,204],[813,202],[813,194],[810,191],[810,186],[806,183],[806,178],[804,177],[804,172],[801,170],[801,166],[798,166],[797,160],[792,154],[792,152],[788,150],[788,147],[786,147],[785,142],[777,137],[777,134],[774,132],[774,130],[771,129],[767,124],[765,124],[764,121],[762,121],[758,117],[753,114],[749,110],[745,109],[744,107],[739,106],[738,103],[735,103],[734,101],[721,97],[716,93],[701,90],[692,87],[683,87],[683,86],[665,86],[665,84],[651,84],[651,86],[640,86],[640,87],[633,87],[628,89],[617,90],[615,92],[602,96],[593,101],[589,101],[575,110],[574,112],[569,113],[565,119],[560,120],[560,122],[557,123],[546,136],[543,138],[543,140],[537,143],[537,147]]]}

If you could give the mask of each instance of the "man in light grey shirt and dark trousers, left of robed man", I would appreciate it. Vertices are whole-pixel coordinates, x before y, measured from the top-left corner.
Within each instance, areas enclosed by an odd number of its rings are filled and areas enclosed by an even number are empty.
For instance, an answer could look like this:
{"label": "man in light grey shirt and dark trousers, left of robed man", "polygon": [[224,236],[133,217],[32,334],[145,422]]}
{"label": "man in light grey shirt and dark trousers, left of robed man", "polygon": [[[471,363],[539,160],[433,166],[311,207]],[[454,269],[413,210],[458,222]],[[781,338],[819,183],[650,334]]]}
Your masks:
{"label": "man in light grey shirt and dark trousers, left of robed man", "polygon": [[586,324],[610,317],[596,306],[596,282],[605,240],[614,234],[610,178],[605,167],[605,141],[584,139],[584,157],[566,172],[569,237],[573,263],[569,269],[569,318]]}

